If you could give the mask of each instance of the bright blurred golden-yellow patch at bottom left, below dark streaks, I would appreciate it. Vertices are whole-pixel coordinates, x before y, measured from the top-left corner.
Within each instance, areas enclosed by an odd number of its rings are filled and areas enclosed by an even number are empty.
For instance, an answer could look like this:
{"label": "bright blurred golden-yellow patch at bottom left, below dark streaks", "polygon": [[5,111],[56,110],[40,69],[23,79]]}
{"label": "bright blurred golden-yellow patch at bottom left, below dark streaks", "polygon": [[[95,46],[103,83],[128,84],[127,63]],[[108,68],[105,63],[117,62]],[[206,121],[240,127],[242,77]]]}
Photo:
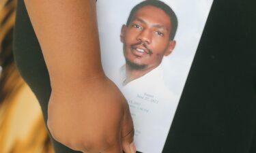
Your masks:
{"label": "bright blurred golden-yellow patch at bottom left, below dark streaks", "polygon": [[[1,108],[1,153],[51,153],[53,148],[45,130],[42,112],[30,88],[24,84]],[[3,110],[3,109],[1,109]]]}

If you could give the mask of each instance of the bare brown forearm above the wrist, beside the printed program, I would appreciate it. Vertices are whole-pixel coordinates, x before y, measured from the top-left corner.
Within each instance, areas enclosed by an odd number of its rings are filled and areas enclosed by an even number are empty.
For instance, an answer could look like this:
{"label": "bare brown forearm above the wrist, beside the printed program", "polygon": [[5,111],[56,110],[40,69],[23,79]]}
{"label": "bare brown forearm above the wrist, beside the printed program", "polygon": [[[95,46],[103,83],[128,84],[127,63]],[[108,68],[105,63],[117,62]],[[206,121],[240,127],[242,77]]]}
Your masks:
{"label": "bare brown forearm above the wrist, beside the printed program", "polygon": [[104,75],[94,0],[25,0],[25,5],[53,90]]}

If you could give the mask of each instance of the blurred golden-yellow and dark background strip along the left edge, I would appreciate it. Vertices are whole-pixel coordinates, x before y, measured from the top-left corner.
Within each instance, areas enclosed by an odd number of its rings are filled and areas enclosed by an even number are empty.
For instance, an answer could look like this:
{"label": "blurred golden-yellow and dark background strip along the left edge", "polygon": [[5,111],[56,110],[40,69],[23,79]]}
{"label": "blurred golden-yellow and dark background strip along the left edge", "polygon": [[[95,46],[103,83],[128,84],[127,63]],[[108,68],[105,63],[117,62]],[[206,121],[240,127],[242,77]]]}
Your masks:
{"label": "blurred golden-yellow and dark background strip along the left edge", "polygon": [[40,105],[14,63],[16,1],[0,0],[0,153],[54,153]]}

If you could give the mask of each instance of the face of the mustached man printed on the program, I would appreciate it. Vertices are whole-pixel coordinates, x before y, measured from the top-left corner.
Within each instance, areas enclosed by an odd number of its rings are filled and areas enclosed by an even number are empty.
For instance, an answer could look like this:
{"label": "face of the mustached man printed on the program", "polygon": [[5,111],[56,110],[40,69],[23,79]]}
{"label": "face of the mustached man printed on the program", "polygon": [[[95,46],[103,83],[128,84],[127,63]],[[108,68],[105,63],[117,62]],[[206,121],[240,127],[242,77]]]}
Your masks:
{"label": "face of the mustached man printed on the program", "polygon": [[126,63],[134,69],[154,69],[163,56],[175,47],[169,39],[171,20],[158,7],[144,6],[134,13],[130,24],[123,25],[121,41],[124,44]]}

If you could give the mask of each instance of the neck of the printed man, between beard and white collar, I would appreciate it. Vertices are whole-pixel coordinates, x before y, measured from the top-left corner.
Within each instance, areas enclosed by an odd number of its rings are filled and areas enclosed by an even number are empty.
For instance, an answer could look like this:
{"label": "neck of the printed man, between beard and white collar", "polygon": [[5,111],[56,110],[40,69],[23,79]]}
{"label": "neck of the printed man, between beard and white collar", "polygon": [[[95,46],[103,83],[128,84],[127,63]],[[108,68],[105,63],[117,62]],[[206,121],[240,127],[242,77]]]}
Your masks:
{"label": "neck of the printed man, between beard and white collar", "polygon": [[129,65],[126,65],[126,80],[124,81],[124,85],[128,84],[132,80],[141,78],[143,75],[145,75],[146,73],[149,73],[156,67],[150,67],[150,68],[146,68],[146,69],[133,69]]}

